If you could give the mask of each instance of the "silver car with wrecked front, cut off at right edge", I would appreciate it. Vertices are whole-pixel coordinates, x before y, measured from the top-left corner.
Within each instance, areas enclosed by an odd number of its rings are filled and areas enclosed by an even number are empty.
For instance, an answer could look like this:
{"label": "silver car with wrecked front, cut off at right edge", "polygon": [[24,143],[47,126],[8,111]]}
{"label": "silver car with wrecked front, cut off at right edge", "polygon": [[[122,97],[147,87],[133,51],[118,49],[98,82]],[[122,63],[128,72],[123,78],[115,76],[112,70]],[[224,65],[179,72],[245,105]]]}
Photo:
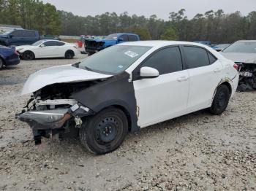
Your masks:
{"label": "silver car with wrecked front, cut off at right edge", "polygon": [[238,65],[238,91],[256,90],[256,41],[241,40],[221,52]]}

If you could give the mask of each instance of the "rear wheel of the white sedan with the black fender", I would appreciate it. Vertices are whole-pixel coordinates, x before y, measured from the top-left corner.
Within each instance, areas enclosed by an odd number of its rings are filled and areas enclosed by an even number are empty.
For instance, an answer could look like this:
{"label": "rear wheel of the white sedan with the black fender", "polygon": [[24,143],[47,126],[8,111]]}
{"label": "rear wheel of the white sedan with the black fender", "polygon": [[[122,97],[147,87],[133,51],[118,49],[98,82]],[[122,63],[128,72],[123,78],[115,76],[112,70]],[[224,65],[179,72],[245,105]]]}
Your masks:
{"label": "rear wheel of the white sedan with the black fender", "polygon": [[214,96],[214,101],[211,104],[210,112],[212,114],[222,114],[227,108],[230,101],[230,90],[227,85],[219,85]]}

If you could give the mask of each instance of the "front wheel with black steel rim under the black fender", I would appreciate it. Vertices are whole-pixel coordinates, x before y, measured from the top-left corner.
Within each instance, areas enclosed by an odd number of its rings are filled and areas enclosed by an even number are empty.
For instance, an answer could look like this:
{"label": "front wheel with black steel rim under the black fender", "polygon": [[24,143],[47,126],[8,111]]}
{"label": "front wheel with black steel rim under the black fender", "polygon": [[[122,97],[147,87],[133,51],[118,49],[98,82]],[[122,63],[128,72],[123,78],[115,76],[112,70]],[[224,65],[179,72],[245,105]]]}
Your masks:
{"label": "front wheel with black steel rim under the black fender", "polygon": [[79,130],[84,147],[97,155],[113,152],[128,132],[127,117],[121,109],[108,108],[88,117]]}

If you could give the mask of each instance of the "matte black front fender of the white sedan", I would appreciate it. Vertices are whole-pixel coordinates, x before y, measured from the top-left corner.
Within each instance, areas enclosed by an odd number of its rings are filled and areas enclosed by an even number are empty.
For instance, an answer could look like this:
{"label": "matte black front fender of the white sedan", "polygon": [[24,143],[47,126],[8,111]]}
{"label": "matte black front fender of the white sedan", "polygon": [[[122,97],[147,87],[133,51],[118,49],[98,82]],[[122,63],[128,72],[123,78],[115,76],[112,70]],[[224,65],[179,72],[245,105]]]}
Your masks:
{"label": "matte black front fender of the white sedan", "polygon": [[108,106],[121,106],[129,112],[132,131],[138,130],[135,91],[133,83],[128,79],[129,74],[123,72],[78,93],[73,93],[72,98],[96,113]]}

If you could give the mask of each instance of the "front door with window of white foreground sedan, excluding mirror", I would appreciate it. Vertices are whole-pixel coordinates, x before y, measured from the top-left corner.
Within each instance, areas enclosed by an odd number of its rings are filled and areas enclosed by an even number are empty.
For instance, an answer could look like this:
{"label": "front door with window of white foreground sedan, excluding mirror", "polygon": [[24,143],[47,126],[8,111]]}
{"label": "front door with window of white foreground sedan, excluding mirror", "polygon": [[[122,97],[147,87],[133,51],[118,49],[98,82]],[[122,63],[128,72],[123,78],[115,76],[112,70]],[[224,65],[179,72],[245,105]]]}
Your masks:
{"label": "front door with window of white foreground sedan, excluding mirror", "polygon": [[[159,77],[140,79],[140,68],[152,67]],[[133,71],[138,125],[143,128],[184,114],[189,95],[189,75],[183,70],[178,46],[152,53]]]}

